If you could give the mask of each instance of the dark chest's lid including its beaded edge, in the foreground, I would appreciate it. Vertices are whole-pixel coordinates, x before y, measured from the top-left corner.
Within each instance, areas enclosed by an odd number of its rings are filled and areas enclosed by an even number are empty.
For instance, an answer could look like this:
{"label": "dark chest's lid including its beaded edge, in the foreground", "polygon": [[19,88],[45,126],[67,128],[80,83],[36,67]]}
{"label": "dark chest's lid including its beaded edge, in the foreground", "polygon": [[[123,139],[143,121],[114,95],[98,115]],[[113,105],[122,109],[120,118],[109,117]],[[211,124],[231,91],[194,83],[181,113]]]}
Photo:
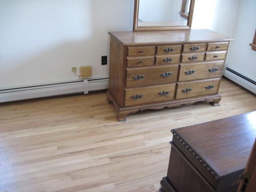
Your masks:
{"label": "dark chest's lid including its beaded edge, in the foreground", "polygon": [[256,112],[171,132],[174,134],[173,144],[208,182],[217,187],[228,177],[239,180],[256,137]]}

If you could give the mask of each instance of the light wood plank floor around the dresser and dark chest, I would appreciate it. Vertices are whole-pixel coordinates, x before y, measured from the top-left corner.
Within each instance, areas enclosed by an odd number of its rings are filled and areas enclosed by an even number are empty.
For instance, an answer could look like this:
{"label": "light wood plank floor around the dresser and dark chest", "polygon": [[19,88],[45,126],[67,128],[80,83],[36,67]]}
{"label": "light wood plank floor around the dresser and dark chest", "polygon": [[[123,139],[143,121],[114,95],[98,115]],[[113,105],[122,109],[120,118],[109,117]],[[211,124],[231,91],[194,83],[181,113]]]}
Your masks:
{"label": "light wood plank floor around the dresser and dark chest", "polygon": [[157,192],[170,130],[256,110],[223,79],[221,106],[147,110],[117,122],[105,92],[0,104],[0,192]]}

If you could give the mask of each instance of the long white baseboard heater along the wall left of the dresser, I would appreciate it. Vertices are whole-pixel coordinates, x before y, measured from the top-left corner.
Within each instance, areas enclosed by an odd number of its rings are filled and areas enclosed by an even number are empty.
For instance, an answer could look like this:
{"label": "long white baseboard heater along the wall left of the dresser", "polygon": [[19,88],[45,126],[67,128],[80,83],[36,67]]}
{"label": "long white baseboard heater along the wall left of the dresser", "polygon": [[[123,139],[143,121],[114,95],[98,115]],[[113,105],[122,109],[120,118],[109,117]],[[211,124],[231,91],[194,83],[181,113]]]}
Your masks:
{"label": "long white baseboard heater along the wall left of the dresser", "polygon": [[92,78],[0,90],[0,103],[108,89],[108,78]]}

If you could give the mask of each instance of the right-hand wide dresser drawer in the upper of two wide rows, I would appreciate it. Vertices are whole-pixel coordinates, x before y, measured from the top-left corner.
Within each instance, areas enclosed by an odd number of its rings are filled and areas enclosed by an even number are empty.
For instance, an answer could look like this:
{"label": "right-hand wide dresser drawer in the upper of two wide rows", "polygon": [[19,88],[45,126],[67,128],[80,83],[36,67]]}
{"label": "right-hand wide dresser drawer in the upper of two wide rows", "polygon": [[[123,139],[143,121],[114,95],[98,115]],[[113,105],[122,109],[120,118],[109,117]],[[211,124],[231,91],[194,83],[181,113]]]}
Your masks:
{"label": "right-hand wide dresser drawer in the upper of two wide rows", "polygon": [[180,64],[179,81],[192,81],[222,76],[224,61]]}

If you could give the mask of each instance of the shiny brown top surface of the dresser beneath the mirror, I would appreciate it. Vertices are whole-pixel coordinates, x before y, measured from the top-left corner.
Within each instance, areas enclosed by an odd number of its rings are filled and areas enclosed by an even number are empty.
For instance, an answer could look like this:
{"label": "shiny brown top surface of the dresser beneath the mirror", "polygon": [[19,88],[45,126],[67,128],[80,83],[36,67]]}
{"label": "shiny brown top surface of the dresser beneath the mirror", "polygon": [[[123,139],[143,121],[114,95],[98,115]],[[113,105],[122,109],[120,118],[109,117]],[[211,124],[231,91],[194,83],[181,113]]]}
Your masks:
{"label": "shiny brown top surface of the dresser beneath the mirror", "polygon": [[208,29],[172,30],[172,31],[124,31],[109,32],[123,45],[194,43],[233,40]]}

